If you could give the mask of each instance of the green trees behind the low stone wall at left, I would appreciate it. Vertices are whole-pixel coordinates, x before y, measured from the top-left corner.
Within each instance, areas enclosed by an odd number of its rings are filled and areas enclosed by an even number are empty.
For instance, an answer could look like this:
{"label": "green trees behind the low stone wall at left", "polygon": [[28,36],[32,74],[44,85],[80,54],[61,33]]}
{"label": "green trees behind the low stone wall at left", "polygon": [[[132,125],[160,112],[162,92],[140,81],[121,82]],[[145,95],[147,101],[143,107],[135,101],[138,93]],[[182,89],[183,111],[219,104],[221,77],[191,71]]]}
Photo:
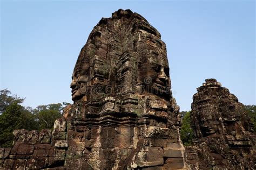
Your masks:
{"label": "green trees behind the low stone wall at left", "polygon": [[39,105],[36,109],[23,107],[24,98],[12,95],[7,89],[0,91],[0,147],[11,147],[16,129],[52,129],[55,120],[69,103]]}

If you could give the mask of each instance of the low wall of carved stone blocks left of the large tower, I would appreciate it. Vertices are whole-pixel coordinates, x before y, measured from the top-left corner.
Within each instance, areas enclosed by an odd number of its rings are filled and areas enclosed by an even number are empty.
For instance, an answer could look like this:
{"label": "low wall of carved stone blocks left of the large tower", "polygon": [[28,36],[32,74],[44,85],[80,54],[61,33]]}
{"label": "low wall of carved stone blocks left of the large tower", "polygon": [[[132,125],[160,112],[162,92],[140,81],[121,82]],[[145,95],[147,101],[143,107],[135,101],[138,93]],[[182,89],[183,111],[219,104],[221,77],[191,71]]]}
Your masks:
{"label": "low wall of carved stone blocks left of the large tower", "polygon": [[15,130],[12,148],[0,148],[0,169],[41,169],[64,166],[66,124],[63,118],[55,122],[53,131],[43,129]]}

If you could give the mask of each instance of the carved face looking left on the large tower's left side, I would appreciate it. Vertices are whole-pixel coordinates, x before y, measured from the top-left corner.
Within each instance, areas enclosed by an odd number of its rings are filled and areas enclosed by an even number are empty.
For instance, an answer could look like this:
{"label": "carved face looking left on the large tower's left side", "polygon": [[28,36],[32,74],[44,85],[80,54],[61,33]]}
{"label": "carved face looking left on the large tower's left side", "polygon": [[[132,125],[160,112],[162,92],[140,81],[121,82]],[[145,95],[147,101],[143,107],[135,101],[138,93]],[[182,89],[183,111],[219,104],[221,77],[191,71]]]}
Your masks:
{"label": "carved face looking left on the large tower's left side", "polygon": [[73,101],[80,100],[86,94],[87,82],[89,82],[89,76],[80,75],[79,72],[73,73],[70,84]]}

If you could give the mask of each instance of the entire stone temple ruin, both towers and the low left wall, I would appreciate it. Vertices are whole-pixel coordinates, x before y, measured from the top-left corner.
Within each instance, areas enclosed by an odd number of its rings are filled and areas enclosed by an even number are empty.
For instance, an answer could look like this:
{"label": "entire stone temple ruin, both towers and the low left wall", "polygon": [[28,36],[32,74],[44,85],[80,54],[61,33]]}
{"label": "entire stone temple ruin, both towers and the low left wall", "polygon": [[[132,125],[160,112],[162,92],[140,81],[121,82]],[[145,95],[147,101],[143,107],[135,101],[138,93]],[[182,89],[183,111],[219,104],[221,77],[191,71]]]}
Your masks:
{"label": "entire stone temple ruin, both towers and the low left wall", "polygon": [[14,147],[0,148],[0,169],[252,169],[255,164],[255,133],[243,105],[214,79],[193,97],[197,139],[185,151],[165,43],[131,10],[118,10],[93,28],[71,88],[74,103],[53,131],[16,130]]}

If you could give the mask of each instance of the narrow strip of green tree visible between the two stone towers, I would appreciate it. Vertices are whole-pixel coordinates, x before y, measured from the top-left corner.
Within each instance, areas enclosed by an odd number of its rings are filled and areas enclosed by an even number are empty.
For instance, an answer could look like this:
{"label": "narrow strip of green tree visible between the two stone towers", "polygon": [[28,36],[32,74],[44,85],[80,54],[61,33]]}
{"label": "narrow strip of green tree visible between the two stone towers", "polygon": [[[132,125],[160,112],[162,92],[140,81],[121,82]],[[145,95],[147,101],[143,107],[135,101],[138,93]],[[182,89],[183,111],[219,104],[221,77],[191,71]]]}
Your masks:
{"label": "narrow strip of green tree visible between the two stone towers", "polygon": [[186,111],[183,114],[184,116],[181,121],[182,125],[180,131],[180,138],[185,146],[189,146],[192,144],[192,139],[194,139],[194,134],[190,125],[190,111]]}

